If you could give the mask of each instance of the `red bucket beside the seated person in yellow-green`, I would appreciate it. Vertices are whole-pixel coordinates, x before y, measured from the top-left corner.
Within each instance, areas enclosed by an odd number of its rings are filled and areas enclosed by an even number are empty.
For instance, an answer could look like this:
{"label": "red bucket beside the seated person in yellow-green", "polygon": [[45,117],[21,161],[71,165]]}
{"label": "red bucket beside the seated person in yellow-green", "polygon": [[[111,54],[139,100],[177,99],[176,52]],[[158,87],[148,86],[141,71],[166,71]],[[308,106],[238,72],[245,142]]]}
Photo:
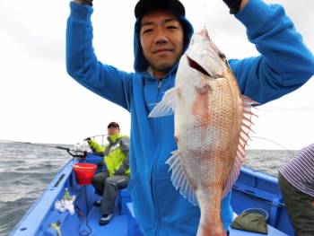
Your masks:
{"label": "red bucket beside the seated person in yellow-green", "polygon": [[92,183],[92,177],[97,169],[97,165],[91,163],[76,163],[73,169],[77,184],[89,185]]}

